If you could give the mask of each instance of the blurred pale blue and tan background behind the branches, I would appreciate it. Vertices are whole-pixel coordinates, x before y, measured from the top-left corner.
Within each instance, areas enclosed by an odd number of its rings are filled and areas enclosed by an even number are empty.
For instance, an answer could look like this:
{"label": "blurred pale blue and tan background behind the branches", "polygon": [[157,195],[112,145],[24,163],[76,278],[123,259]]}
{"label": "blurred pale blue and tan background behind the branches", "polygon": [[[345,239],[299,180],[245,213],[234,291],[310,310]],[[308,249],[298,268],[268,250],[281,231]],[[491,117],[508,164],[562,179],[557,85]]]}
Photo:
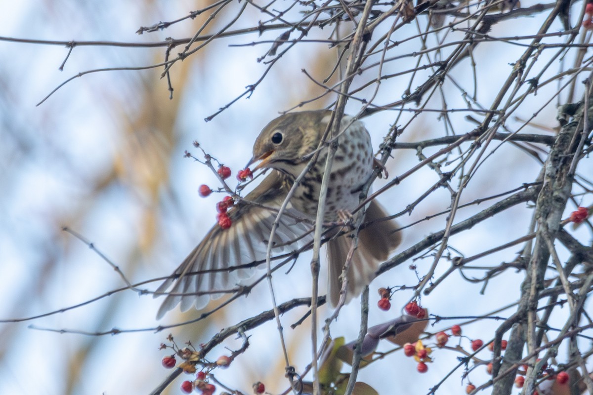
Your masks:
{"label": "blurred pale blue and tan background behind the branches", "polygon": [[[160,21],[176,20],[209,4],[189,0],[7,2],[2,5],[0,13],[0,36],[61,43],[71,40],[154,43],[168,37],[190,38],[206,21],[209,12],[162,30],[142,35],[136,31]],[[533,4],[522,4],[522,7]],[[276,6],[284,7],[273,5]],[[579,2],[578,9],[575,7],[573,22],[577,20],[581,6]],[[297,11],[288,15],[292,20],[298,17]],[[206,26],[202,35],[221,30],[234,16],[233,12],[221,12]],[[505,21],[497,24],[490,34],[527,35],[537,31],[545,17],[545,13],[534,14],[533,18],[522,18],[520,24],[514,20]],[[254,27],[259,20],[267,19],[270,17],[248,7],[232,29]],[[426,28],[426,23],[426,18],[418,18],[398,31],[393,40],[414,36]],[[351,28],[352,25],[345,24],[343,31],[347,33]],[[387,30],[388,26],[379,29],[375,37]],[[562,25],[555,22],[550,31],[559,30]],[[176,62],[170,69],[174,89],[172,99],[167,78],[161,78],[160,67],[89,73],[68,82],[40,105],[37,104],[53,89],[79,72],[158,64],[164,62],[166,47],[76,46],[65,62],[69,49],[63,44],[0,41],[0,57],[3,59],[0,62],[0,319],[3,320],[0,323],[0,394],[149,393],[169,373],[160,362],[166,353],[158,349],[168,333],[173,333],[180,345],[187,341],[199,344],[208,341],[223,327],[272,307],[267,286],[262,283],[248,298],[213,314],[208,320],[158,331],[160,325],[183,322],[200,313],[190,310],[181,314],[176,310],[157,322],[155,314],[160,301],[153,300],[150,295],[127,290],[106,296],[110,291],[125,287],[125,282],[94,249],[119,266],[128,280],[139,282],[169,275],[201,240],[215,223],[215,204],[221,195],[199,197],[197,187],[200,184],[214,188],[217,181],[206,166],[184,158],[184,151],[200,158],[202,154],[192,146],[196,140],[209,154],[232,169],[231,182],[234,182],[235,172],[251,158],[253,141],[268,121],[281,111],[323,94],[324,88],[301,70],[305,69],[314,78],[322,80],[336,62],[336,50],[330,50],[327,43],[313,42],[315,38],[328,38],[330,30],[314,30],[307,36],[312,42],[295,46],[279,59],[252,95],[238,99],[206,123],[204,118],[242,94],[246,86],[256,82],[267,68],[265,62],[257,62],[257,59],[266,54],[270,43],[231,44],[273,41],[280,33],[266,31],[262,36],[252,33],[218,38],[183,62]],[[445,38],[455,41],[455,34],[451,33],[451,37],[445,37],[444,33],[435,35],[436,38],[430,38],[434,41],[429,45],[437,45],[438,40]],[[588,36],[584,34],[582,39],[588,40]],[[418,60],[410,54],[419,50],[422,44],[417,39],[402,41],[393,54],[407,56],[385,64],[382,73],[388,75],[415,67]],[[176,56],[183,47],[175,47],[171,56]],[[466,108],[468,99],[464,97],[464,91],[475,95],[476,102],[488,108],[500,84],[511,72],[512,63],[523,51],[524,47],[503,42],[477,47],[473,57],[451,70],[447,84],[442,86],[439,95],[429,99],[426,108]],[[542,71],[542,79],[546,78],[547,68],[552,76],[563,67],[558,66],[559,62],[548,65],[551,52],[543,52],[540,56],[534,67]],[[574,62],[576,56],[576,53],[565,53],[562,62]],[[63,70],[60,70],[63,62]],[[472,62],[477,64],[475,68],[471,66]],[[422,64],[426,63],[428,61],[423,59]],[[367,80],[375,78],[377,72],[376,68],[369,68],[364,77]],[[382,82],[375,102],[397,101],[406,89],[413,91],[418,81],[423,81],[421,77],[426,75],[428,72],[420,70],[417,80],[403,75]],[[334,77],[332,81],[337,80]],[[362,85],[362,81],[357,84]],[[476,85],[474,81],[488,83]],[[575,89],[577,99],[582,95],[579,85]],[[371,97],[374,89],[375,86],[363,89],[358,97]],[[553,128],[557,127],[556,105],[568,99],[565,93],[554,97],[557,91],[558,84],[549,84],[540,88],[537,96],[529,95],[515,112],[517,118],[509,120],[505,126],[517,130],[535,114],[522,133],[553,135]],[[443,97],[447,98],[445,104]],[[550,98],[553,99],[550,101]],[[333,95],[326,95],[308,102],[302,109],[323,108],[334,99]],[[407,108],[413,107],[410,104]],[[355,114],[360,108],[360,102],[351,100],[346,113]],[[397,118],[399,115],[393,110],[382,111],[364,119],[375,149],[396,119],[398,125],[406,124],[398,139],[400,142],[463,134],[476,127],[463,112],[449,114],[446,121],[438,111],[425,111],[418,116],[404,112]],[[438,148],[427,149],[425,155]],[[545,153],[541,157],[545,158]],[[591,169],[590,159],[588,162],[581,166]],[[394,158],[387,162],[387,168],[393,177],[417,163],[415,150],[396,150]],[[447,165],[449,163],[443,163],[443,166]],[[499,146],[495,143],[490,156],[483,161],[464,191],[461,202],[470,203],[534,181],[540,169],[541,163],[526,155],[524,150],[511,144]],[[388,181],[377,181],[375,189]],[[421,169],[382,194],[379,200],[390,213],[399,213],[437,181],[435,172]],[[591,198],[580,198],[577,203],[590,205]],[[401,217],[400,222],[403,225],[414,223],[447,210],[450,204],[449,192],[441,188],[409,215]],[[457,220],[484,207],[470,206],[460,210]],[[566,215],[575,207],[569,207]],[[533,210],[527,204],[507,210],[496,219],[452,237],[449,244],[455,250],[448,253],[469,256],[520,237],[527,232],[532,214]],[[421,221],[407,229],[403,247],[443,229],[445,217]],[[64,226],[93,243],[94,249],[63,232]],[[586,243],[588,236],[586,233],[582,235]],[[519,251],[519,247],[506,249],[490,255],[476,266],[482,265],[480,268],[483,268],[512,261]],[[418,271],[423,275],[432,263],[430,258],[431,253],[427,253],[426,259],[417,259],[410,264],[418,265]],[[279,302],[310,296],[308,262],[310,254],[304,254],[288,275],[275,276]],[[417,284],[415,272],[404,266],[407,265],[401,265],[373,282],[371,306],[377,303],[378,287]],[[448,262],[439,265],[435,276],[442,274],[448,266]],[[322,273],[324,275],[323,270]],[[480,271],[476,277],[482,275]],[[324,284],[324,278],[321,281]],[[505,276],[492,278],[480,294],[483,283],[470,283],[454,274],[423,298],[422,304],[431,313],[441,316],[479,316],[514,303],[521,281],[520,274],[505,273]],[[141,288],[154,290],[158,284],[152,282]],[[99,296],[106,297],[92,301]],[[396,293],[391,311],[371,309],[369,325],[398,316],[398,309],[411,296],[412,291]],[[77,304],[82,305],[60,311]],[[294,358],[292,364],[297,371],[310,361],[309,322],[305,321],[295,330],[290,329],[290,325],[305,312],[305,308],[296,309],[282,317],[286,342]],[[511,313],[508,310],[497,314],[508,316]],[[42,314],[46,315],[37,317]],[[323,317],[331,311],[324,308],[321,314],[320,322],[323,322]],[[562,312],[559,314],[561,322]],[[452,323],[445,322],[441,326]],[[359,306],[350,303],[331,327],[331,335],[353,340],[358,335],[358,325]],[[484,320],[469,327],[466,334],[490,339],[496,326],[496,323]],[[113,328],[129,332],[95,335]],[[62,330],[65,333],[60,333]],[[433,329],[429,327],[429,330]],[[244,393],[251,393],[251,384],[256,381],[266,383],[271,393],[285,390],[275,323],[269,322],[248,335],[251,336],[250,348],[231,368],[217,373],[218,380]],[[231,349],[238,345],[239,340],[225,342]],[[380,345],[380,348],[388,351],[391,346]],[[216,359],[222,354],[229,352],[221,347],[212,352],[211,358]],[[361,370],[359,377],[381,394],[426,393],[457,363],[456,357],[455,352],[442,351],[423,377],[417,374],[416,365],[410,359],[401,353],[390,354],[384,363]],[[480,368],[472,372],[471,378],[484,381],[486,372]],[[178,384],[181,380],[173,383],[168,393],[180,393]],[[461,371],[457,371],[445,381],[441,390],[460,393],[462,388]]]}

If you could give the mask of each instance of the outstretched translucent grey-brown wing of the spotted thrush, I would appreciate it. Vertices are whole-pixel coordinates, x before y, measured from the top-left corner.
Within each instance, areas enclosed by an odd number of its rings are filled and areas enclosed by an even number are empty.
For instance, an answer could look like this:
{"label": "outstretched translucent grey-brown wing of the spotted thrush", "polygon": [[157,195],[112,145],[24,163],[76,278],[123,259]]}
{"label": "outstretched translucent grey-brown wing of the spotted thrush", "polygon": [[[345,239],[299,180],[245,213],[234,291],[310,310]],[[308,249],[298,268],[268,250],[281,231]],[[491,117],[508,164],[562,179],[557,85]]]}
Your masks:
{"label": "outstretched translucent grey-brown wing of the spotted thrush", "polygon": [[[253,267],[255,265],[249,268],[233,269],[233,267],[265,261],[272,224],[290,186],[285,176],[278,171],[272,171],[245,199],[276,210],[247,202],[238,203],[229,210],[231,227],[222,229],[218,224],[212,227],[202,242],[179,265],[171,278],[158,287],[155,297],[163,293],[167,293],[167,297],[158,310],[157,319],[174,309],[177,304],[181,304],[182,311],[189,309],[192,305],[196,306],[196,309],[202,309],[211,298],[217,298],[223,294],[196,295],[196,293],[228,290],[234,287],[237,281],[256,274],[257,271]],[[311,226],[295,217],[299,217],[298,211],[289,205],[276,229],[273,243],[277,247],[272,249],[273,255],[282,251],[295,250],[312,239],[313,236],[308,235],[298,240],[299,236],[311,229]],[[195,274],[195,272],[200,273]],[[171,290],[167,291],[172,284]]]}

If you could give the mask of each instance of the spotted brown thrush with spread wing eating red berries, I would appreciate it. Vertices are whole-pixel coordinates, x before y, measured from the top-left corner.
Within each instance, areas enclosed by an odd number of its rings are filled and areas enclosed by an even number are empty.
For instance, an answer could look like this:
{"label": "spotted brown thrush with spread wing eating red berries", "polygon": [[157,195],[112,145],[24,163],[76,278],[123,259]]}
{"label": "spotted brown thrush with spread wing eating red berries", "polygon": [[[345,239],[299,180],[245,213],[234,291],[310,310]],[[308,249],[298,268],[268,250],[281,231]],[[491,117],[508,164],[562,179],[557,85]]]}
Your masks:
{"label": "spotted brown thrush with spread wing eating red berries", "polygon": [[[278,209],[295,179],[307,166],[319,146],[332,117],[331,111],[302,111],[282,115],[270,122],[257,137],[250,163],[256,169],[270,168],[264,180],[234,208],[229,210],[231,226],[214,226],[202,242],[181,263],[174,274],[157,290],[155,296],[167,293],[158,311],[158,318],[181,303],[181,310],[206,306],[209,299],[222,296],[216,290],[229,290],[255,274],[251,262],[266,259],[267,242]],[[336,222],[340,214],[349,213],[360,203],[362,188],[372,176],[375,165],[371,137],[363,124],[345,116],[340,121],[337,150],[329,174],[324,221]],[[321,181],[326,165],[327,147],[301,179],[280,217],[273,239],[272,255],[294,251],[313,239]],[[362,215],[362,214],[357,214]],[[347,272],[346,300],[358,296],[374,277],[378,264],[388,258],[400,243],[393,220],[375,201],[364,211],[364,227]],[[345,233],[337,236],[340,233]],[[352,228],[334,229],[327,242],[330,303],[335,306],[342,287],[343,266],[353,243]],[[236,266],[240,266],[237,268]],[[167,292],[171,284],[173,288]],[[214,291],[214,293],[212,293]],[[196,293],[204,293],[202,295]]]}

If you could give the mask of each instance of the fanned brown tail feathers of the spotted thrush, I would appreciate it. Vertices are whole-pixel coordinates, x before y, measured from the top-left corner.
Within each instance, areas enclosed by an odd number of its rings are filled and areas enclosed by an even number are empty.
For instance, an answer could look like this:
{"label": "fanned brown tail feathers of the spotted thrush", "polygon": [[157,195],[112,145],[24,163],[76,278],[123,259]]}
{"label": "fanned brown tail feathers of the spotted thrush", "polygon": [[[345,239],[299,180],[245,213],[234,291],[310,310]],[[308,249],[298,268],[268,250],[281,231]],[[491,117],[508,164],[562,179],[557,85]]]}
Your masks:
{"label": "fanned brown tail feathers of the spotted thrush", "polygon": [[[381,221],[387,217],[380,204],[371,201],[365,211],[364,223],[368,223],[358,235],[358,246],[353,251],[350,267],[347,272],[348,285],[346,303],[358,296],[364,287],[375,277],[381,262],[387,260],[391,252],[401,242],[400,232],[396,232],[398,224],[395,220]],[[328,256],[328,290],[327,297],[331,306],[337,306],[342,289],[342,269],[348,252],[354,241],[354,232],[327,242]]]}

